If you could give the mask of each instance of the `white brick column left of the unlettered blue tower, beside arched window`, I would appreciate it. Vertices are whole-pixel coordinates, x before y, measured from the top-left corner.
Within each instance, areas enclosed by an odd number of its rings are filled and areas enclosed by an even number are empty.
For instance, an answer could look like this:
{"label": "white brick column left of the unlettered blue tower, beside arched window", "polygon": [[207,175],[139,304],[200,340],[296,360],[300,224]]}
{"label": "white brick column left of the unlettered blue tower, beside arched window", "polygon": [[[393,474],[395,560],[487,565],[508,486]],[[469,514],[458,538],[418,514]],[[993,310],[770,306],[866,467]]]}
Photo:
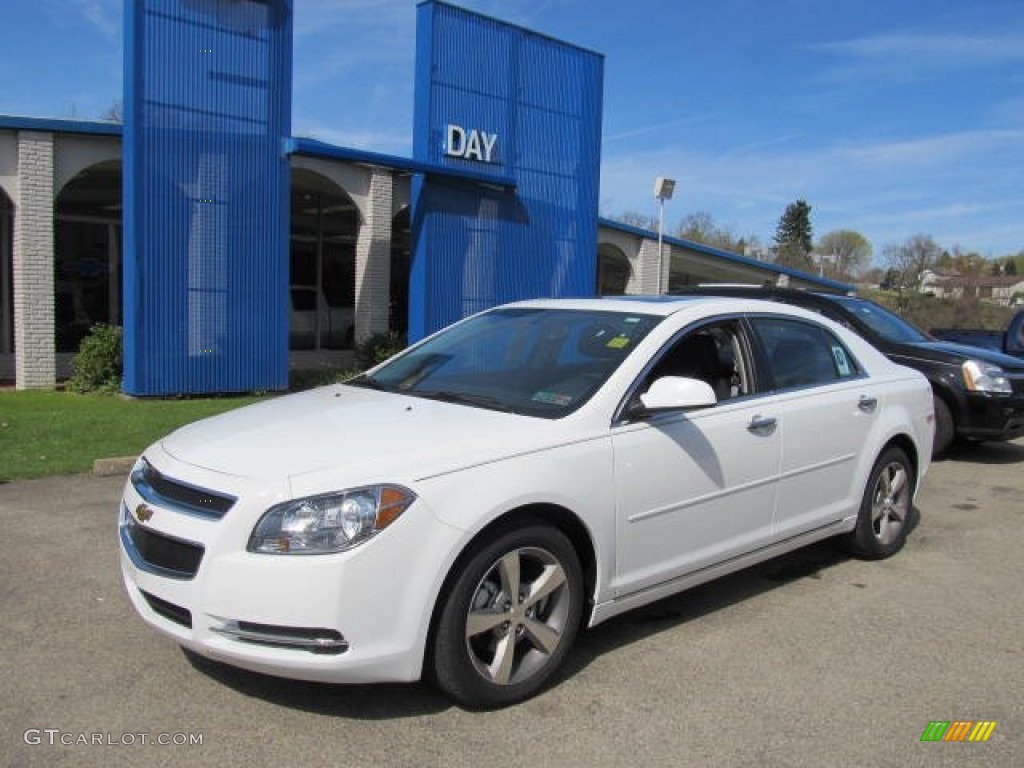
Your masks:
{"label": "white brick column left of the unlettered blue tower, beside arched window", "polygon": [[17,137],[14,201],[14,379],[18,389],[56,384],[53,285],[53,134]]}

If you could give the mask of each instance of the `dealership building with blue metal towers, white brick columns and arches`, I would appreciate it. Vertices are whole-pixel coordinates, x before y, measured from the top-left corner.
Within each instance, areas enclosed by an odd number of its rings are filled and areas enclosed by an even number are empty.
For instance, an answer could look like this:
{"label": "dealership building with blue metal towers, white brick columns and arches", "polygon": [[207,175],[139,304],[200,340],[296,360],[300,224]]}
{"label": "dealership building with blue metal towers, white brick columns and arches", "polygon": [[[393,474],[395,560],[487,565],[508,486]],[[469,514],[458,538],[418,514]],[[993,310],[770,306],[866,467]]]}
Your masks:
{"label": "dealership building with blue metal towers, white brick columns and arches", "polygon": [[412,158],[292,136],[291,11],[127,3],[123,126],[0,116],[0,381],[54,386],[96,323],[164,395],[522,298],[848,290],[600,218],[603,57],[446,3],[417,8]]}

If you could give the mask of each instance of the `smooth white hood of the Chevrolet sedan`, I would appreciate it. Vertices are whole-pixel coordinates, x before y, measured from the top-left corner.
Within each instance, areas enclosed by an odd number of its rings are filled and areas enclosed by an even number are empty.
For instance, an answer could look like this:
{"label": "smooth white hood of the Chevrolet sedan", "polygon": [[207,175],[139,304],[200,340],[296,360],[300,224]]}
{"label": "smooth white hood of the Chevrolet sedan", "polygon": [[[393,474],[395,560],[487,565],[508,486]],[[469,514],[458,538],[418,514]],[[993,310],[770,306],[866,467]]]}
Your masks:
{"label": "smooth white hood of the Chevrolet sedan", "polygon": [[196,422],[162,447],[238,477],[343,469],[354,482],[397,481],[537,450],[557,432],[547,419],[338,385]]}

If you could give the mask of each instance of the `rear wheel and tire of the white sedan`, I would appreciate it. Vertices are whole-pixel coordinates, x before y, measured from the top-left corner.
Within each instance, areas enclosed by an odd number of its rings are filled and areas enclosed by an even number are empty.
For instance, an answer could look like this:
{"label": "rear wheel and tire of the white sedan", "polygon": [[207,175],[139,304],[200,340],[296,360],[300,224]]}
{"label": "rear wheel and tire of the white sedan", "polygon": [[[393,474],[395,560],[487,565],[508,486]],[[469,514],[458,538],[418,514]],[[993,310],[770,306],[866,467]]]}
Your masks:
{"label": "rear wheel and tire of the white sedan", "polygon": [[896,554],[906,541],[913,504],[913,466],[895,445],[886,449],[871,469],[848,544],[854,554],[881,560]]}

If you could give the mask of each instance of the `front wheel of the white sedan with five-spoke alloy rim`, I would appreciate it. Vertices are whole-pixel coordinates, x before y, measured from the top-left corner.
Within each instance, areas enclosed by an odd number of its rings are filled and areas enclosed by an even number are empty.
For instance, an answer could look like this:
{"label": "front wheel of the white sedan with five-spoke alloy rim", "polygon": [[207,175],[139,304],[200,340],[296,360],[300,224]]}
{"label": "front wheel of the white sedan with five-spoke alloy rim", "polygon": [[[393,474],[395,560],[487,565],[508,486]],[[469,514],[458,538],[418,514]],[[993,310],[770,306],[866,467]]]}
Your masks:
{"label": "front wheel of the white sedan with five-spoke alloy rim", "polygon": [[583,612],[575,550],[544,524],[478,546],[455,574],[437,620],[433,678],[469,709],[537,693],[561,666]]}

